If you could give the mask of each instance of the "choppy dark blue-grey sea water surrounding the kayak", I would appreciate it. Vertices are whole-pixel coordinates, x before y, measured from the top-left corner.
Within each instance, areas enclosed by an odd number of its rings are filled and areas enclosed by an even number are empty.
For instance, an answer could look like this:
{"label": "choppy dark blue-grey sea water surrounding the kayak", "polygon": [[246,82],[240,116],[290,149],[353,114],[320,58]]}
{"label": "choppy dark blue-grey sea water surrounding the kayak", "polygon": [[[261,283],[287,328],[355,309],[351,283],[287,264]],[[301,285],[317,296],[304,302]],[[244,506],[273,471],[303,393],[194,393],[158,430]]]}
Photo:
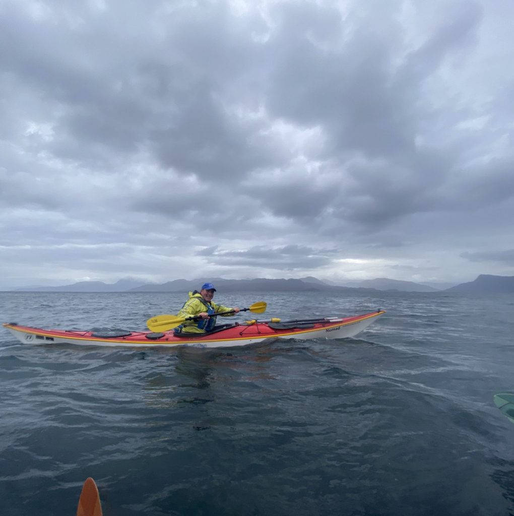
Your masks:
{"label": "choppy dark blue-grey sea water surrounding the kayak", "polygon": [[[0,331],[0,514],[514,512],[514,296],[218,295],[267,315],[386,309],[348,340],[224,350],[20,344]],[[178,294],[0,293],[0,318],[143,330]],[[244,320],[244,317],[240,317]]]}

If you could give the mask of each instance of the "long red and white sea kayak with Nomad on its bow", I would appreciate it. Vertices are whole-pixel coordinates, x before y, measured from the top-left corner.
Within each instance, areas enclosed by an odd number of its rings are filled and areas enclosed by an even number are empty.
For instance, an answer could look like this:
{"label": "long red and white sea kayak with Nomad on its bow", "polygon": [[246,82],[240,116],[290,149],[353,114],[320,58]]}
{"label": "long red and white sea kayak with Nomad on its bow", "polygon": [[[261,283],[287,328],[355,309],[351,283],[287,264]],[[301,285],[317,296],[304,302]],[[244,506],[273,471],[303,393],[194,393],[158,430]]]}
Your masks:
{"label": "long red and white sea kayak with Nomad on its bow", "polygon": [[232,324],[211,333],[183,337],[173,331],[164,333],[104,330],[46,330],[20,326],[14,322],[4,324],[20,342],[34,344],[79,344],[83,346],[189,346],[196,348],[218,348],[245,346],[262,342],[267,338],[346,338],[357,335],[376,318],[385,313],[377,310],[353,317],[325,317],[319,319],[292,320],[284,322],[256,322],[255,324]]}

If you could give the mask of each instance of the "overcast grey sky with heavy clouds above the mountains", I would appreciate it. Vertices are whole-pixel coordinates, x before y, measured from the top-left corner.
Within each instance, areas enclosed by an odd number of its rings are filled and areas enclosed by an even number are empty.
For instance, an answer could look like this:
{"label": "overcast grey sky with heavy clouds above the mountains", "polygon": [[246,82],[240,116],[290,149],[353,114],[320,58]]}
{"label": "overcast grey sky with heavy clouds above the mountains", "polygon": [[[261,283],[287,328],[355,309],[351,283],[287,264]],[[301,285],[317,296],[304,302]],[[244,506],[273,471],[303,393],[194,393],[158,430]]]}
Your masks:
{"label": "overcast grey sky with heavy clouds above the mountains", "polygon": [[0,289],[514,275],[510,0],[0,0]]}

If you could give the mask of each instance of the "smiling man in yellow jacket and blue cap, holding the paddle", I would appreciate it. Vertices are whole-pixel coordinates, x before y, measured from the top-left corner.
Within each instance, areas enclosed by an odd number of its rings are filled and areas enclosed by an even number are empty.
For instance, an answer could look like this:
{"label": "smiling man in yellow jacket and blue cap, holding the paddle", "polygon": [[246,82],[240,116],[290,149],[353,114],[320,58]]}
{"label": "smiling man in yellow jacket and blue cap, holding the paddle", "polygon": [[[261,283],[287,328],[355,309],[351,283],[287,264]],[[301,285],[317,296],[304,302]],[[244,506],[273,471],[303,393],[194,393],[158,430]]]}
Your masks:
{"label": "smiling man in yellow jacket and blue cap, holding the paddle", "polygon": [[213,303],[216,288],[212,283],[204,283],[200,292],[189,293],[189,299],[177,314],[179,317],[199,317],[199,320],[189,320],[177,326],[174,330],[175,335],[207,333],[214,329],[216,315],[220,312],[231,312],[222,314],[223,317],[231,317],[239,312],[239,308],[222,307],[220,304]]}

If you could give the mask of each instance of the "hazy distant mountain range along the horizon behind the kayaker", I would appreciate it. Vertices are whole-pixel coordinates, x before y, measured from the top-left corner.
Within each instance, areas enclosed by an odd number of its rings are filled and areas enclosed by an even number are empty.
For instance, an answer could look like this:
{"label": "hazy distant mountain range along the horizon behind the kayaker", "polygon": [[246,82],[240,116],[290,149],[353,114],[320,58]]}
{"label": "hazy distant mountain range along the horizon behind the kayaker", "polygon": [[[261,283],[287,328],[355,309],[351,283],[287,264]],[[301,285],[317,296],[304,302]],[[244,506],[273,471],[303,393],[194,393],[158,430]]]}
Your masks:
{"label": "hazy distant mountain range along the horizon behind the kayaker", "polygon": [[[514,276],[480,275],[469,283],[461,283],[449,288],[435,288],[427,284],[411,281],[375,278],[374,280],[349,281],[342,284],[322,281],[312,276],[297,279],[245,279],[227,280],[208,278],[223,292],[334,292],[351,289],[374,289],[378,291],[399,292],[462,292],[462,293],[494,293],[514,292]],[[146,283],[133,279],[122,279],[116,283],[103,281],[80,281],[71,285],[55,287],[24,287],[17,291],[24,292],[188,292],[200,288],[205,279],[173,280],[166,283]]]}

